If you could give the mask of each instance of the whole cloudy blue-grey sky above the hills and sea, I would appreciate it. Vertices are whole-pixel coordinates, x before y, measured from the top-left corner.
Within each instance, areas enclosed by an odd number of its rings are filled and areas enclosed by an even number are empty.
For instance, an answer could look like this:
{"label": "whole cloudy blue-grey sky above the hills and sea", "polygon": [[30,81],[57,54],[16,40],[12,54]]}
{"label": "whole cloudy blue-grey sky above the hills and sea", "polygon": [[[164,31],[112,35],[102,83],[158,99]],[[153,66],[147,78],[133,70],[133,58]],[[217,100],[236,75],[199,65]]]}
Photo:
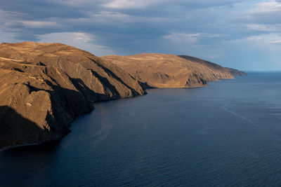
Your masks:
{"label": "whole cloudy blue-grey sky above the hills and sea", "polygon": [[281,0],[0,0],[0,42],[65,43],[97,56],[191,55],[281,70]]}

